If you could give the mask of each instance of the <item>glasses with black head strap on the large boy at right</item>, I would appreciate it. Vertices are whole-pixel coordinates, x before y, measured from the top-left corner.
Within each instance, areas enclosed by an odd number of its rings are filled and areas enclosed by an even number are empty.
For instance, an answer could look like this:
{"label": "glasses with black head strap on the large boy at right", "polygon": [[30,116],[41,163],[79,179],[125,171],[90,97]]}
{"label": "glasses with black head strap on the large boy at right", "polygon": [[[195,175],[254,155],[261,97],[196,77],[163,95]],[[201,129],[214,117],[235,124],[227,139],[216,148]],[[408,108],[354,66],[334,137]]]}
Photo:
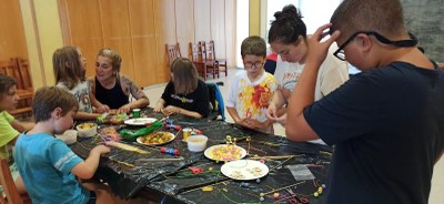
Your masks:
{"label": "glasses with black head strap on the large boy at right", "polygon": [[333,55],[336,57],[337,59],[345,61],[345,53],[344,53],[344,48],[350,44],[356,38],[357,34],[366,34],[366,35],[374,35],[380,42],[384,44],[391,44],[395,47],[414,47],[417,44],[417,39],[415,35],[412,33],[408,33],[410,40],[398,40],[398,41],[391,41],[387,38],[381,35],[380,33],[375,31],[359,31],[352,34],[334,53]]}

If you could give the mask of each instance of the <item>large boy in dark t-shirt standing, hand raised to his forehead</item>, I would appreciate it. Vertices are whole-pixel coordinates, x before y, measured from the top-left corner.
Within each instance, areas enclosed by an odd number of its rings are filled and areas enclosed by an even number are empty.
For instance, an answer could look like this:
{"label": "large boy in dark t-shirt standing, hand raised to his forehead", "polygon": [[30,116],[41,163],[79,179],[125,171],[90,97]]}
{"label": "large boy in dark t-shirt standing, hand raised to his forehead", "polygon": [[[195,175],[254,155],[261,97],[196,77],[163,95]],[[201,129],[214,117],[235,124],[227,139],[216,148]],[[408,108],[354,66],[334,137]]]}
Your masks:
{"label": "large boy in dark t-shirt standing, hand raised to his forehead", "polygon": [[[362,72],[313,102],[334,41],[335,55]],[[444,72],[416,42],[398,0],[344,0],[309,40],[285,130],[295,141],[335,145],[327,203],[428,202],[433,165],[444,152]]]}

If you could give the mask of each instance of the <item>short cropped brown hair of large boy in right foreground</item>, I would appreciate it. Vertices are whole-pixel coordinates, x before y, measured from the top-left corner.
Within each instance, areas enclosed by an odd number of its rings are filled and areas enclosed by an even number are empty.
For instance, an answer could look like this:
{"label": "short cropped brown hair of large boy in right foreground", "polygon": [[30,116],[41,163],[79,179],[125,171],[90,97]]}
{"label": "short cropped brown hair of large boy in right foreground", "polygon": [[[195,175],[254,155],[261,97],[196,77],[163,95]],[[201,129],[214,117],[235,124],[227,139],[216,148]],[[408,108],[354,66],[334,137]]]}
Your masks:
{"label": "short cropped brown hair of large boy in right foreground", "polygon": [[357,31],[375,31],[389,39],[408,37],[398,0],[344,0],[330,22],[330,32],[340,30],[344,39]]}

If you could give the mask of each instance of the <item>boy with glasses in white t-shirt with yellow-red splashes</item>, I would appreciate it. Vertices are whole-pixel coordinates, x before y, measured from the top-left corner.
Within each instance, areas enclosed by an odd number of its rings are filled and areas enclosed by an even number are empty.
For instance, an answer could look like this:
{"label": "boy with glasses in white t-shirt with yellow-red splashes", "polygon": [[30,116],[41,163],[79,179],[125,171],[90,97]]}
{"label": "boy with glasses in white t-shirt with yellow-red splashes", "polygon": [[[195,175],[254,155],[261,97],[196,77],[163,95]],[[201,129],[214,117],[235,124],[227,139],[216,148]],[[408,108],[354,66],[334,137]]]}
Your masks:
{"label": "boy with glasses in white t-shirt with yellow-red splashes", "polygon": [[241,55],[245,71],[231,83],[226,110],[236,124],[273,133],[273,121],[266,119],[265,112],[278,83],[263,68],[265,41],[261,37],[246,38],[241,44]]}

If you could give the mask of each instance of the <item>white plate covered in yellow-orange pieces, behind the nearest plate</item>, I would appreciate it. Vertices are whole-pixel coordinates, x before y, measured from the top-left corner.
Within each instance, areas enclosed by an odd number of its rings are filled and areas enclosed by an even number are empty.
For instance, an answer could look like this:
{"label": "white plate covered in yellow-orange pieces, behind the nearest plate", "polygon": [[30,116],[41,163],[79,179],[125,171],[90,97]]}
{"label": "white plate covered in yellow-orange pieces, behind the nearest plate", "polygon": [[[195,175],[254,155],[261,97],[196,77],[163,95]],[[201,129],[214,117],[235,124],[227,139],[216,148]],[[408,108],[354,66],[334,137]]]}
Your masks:
{"label": "white plate covered in yellow-orange pieces, behind the nearest plate", "polygon": [[246,151],[234,144],[219,144],[210,146],[204,152],[205,156],[215,161],[234,161],[245,157]]}

